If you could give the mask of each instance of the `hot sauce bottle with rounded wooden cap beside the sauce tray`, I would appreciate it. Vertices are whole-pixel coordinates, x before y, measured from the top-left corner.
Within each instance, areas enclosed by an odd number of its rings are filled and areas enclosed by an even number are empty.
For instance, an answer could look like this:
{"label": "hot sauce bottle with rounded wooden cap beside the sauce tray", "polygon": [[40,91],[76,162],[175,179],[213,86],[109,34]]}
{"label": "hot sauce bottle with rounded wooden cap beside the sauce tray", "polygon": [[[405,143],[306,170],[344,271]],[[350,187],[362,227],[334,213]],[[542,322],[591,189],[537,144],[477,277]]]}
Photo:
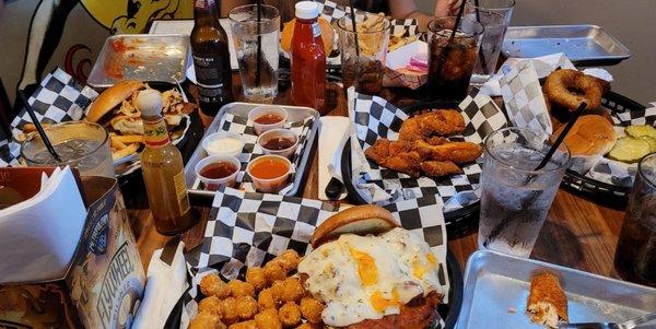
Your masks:
{"label": "hot sauce bottle with rounded wooden cap beside the sauce tray", "polygon": [[183,156],[171,143],[162,116],[162,94],[145,90],[137,95],[137,108],[143,120],[145,150],[141,171],[155,228],[163,235],[183,233],[195,224],[191,215]]}

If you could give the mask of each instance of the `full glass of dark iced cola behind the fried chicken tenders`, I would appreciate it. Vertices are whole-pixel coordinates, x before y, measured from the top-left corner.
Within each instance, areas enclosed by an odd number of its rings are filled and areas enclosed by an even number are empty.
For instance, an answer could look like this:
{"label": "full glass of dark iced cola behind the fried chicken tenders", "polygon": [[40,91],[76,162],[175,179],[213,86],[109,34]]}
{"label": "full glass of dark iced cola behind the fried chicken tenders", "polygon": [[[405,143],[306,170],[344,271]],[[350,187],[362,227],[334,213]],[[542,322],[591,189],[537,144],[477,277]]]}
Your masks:
{"label": "full glass of dark iced cola behind the fried chicken tenders", "polygon": [[[436,99],[461,101],[467,96],[483,26],[470,17],[437,17],[429,23],[429,87]],[[452,39],[454,28],[456,34]]]}

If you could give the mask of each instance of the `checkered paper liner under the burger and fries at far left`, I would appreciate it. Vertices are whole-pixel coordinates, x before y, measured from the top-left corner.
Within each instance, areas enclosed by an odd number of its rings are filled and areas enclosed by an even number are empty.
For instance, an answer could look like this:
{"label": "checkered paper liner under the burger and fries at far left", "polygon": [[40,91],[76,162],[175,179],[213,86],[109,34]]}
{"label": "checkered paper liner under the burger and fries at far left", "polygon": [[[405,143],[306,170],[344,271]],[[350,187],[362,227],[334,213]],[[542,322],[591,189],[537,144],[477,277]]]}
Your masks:
{"label": "checkered paper liner under the burger and fries at far left", "polygon": [[[48,73],[36,91],[30,96],[27,103],[32,106],[36,117],[42,124],[59,124],[80,120],[84,108],[98,96],[91,87],[80,83],[60,68]],[[19,136],[23,127],[32,122],[25,108],[21,108],[11,121],[11,133]],[[7,137],[0,138],[0,166],[17,165],[21,145]]]}

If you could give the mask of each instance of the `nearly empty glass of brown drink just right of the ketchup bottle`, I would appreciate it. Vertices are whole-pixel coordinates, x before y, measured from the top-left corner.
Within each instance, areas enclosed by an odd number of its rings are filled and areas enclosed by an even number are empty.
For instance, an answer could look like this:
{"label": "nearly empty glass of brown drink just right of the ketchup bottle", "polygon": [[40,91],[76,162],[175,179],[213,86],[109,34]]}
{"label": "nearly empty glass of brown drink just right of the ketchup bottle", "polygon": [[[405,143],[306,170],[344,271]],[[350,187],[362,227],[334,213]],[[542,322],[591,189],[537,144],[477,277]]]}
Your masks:
{"label": "nearly empty glass of brown drink just right of the ketchup bottle", "polygon": [[337,26],[344,89],[355,85],[355,91],[359,93],[367,95],[380,93],[391,22],[378,14],[355,14],[360,56],[355,47],[351,15],[339,19]]}

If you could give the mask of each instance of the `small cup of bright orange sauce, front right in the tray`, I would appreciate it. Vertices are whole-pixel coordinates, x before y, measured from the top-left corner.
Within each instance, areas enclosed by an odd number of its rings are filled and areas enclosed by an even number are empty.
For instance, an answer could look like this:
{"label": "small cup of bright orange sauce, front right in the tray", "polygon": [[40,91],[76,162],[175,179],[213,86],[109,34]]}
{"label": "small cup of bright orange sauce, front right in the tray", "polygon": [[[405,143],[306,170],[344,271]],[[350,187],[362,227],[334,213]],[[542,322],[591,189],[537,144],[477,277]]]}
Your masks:
{"label": "small cup of bright orange sauce, front right in the tray", "polygon": [[292,172],[292,163],[280,155],[261,155],[250,161],[246,173],[253,179],[255,188],[265,193],[277,193],[288,183]]}

